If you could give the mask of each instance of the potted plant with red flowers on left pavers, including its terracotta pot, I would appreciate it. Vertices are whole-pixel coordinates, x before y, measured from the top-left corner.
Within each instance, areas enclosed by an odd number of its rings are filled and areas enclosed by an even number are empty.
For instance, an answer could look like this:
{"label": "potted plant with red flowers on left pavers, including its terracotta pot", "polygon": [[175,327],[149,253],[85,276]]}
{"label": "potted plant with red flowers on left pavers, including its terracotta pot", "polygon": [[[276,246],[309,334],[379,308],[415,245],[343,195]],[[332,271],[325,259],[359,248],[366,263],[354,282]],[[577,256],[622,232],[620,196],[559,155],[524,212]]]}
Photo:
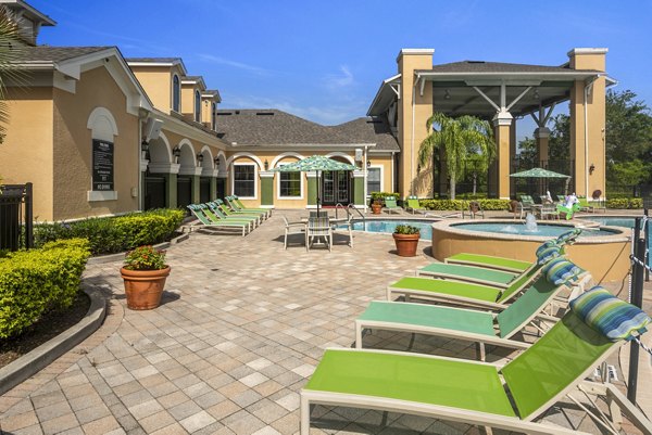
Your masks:
{"label": "potted plant with red flowers on left pavers, including its terracotta pot", "polygon": [[129,251],[125,256],[125,266],[120,270],[125,281],[127,307],[138,310],[156,308],[170,269],[165,264],[165,251],[152,246]]}

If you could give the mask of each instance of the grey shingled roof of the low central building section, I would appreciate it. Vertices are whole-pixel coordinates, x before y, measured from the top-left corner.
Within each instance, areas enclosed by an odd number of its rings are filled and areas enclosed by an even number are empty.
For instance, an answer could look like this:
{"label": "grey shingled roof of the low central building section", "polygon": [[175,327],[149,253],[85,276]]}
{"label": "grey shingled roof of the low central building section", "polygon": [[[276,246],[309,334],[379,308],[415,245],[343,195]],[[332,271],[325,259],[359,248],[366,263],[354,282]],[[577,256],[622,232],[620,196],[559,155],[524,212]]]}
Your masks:
{"label": "grey shingled roof of the low central building section", "polygon": [[218,110],[217,132],[238,146],[375,143],[276,108]]}

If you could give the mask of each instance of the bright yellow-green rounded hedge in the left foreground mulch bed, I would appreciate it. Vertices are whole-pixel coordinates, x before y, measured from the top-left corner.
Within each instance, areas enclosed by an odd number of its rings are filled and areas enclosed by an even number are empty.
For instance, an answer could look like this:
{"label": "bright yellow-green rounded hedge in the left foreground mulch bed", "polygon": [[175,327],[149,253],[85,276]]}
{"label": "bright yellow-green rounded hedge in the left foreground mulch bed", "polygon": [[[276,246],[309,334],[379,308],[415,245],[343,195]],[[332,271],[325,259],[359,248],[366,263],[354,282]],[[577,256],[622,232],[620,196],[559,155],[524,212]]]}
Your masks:
{"label": "bright yellow-green rounded hedge in the left foreground mulch bed", "polygon": [[70,239],[0,258],[0,338],[20,334],[50,310],[70,307],[89,254],[87,240]]}

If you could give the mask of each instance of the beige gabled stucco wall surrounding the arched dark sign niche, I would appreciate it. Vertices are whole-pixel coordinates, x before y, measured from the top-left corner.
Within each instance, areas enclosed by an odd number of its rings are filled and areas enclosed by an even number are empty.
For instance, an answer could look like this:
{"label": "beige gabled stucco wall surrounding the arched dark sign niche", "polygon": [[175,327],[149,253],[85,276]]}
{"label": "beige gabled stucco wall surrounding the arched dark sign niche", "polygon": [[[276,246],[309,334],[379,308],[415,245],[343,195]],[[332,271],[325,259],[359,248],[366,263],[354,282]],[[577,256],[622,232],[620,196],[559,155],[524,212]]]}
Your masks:
{"label": "beige gabled stucco wall surrounding the arched dark sign niche", "polygon": [[[54,207],[52,219],[124,213],[138,209],[131,189],[138,188],[140,144],[138,117],[126,112],[126,97],[104,67],[83,73],[75,93],[53,90]],[[116,201],[88,202],[91,189],[91,112],[105,107],[115,119],[114,189]]]}

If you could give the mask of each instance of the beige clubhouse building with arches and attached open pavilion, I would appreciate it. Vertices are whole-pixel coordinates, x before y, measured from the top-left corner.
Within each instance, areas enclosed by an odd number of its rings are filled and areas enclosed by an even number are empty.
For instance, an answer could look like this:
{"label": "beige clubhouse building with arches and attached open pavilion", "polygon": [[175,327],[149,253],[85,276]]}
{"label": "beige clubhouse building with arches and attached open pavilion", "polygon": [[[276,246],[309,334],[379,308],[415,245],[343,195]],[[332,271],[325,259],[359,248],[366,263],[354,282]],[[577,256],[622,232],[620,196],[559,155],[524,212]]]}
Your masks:
{"label": "beige clubhouse building with arches and attached open pavilion", "polygon": [[[606,49],[574,49],[560,66],[491,62],[432,65],[434,50],[403,49],[367,116],[322,126],[274,108],[225,110],[220,92],[178,57],[125,59],[116,47],[37,43],[55,25],[23,0],[0,0],[21,20],[26,84],[7,82],[10,119],[0,145],[4,183],[34,183],[34,214],[64,220],[183,207],[227,194],[278,208],[365,207],[373,191],[443,193],[441,170],[421,168],[435,111],[492,121],[498,158],[488,193],[515,194],[516,121],[537,123],[537,166],[549,166],[552,110],[570,106],[570,162],[579,194],[604,192]],[[353,171],[276,172],[322,154]],[[563,171],[563,170],[560,170]],[[435,174],[435,175],[434,175]],[[317,182],[318,180],[318,182]]]}

